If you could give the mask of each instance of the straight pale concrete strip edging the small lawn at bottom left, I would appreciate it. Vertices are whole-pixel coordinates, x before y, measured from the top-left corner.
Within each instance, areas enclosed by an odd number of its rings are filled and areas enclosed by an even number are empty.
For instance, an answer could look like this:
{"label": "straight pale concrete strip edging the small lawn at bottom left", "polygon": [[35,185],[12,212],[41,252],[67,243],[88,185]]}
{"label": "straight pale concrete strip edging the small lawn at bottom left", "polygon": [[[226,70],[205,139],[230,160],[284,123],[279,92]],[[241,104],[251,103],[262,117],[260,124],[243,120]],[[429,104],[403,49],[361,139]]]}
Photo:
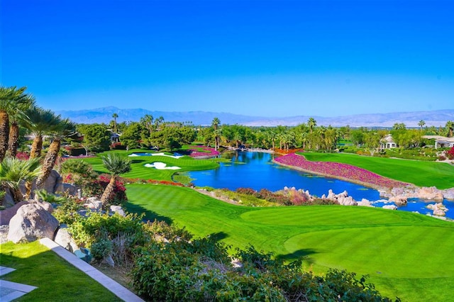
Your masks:
{"label": "straight pale concrete strip edging the small lawn at bottom left", "polygon": [[[95,281],[99,282],[102,286],[106,289],[109,289],[112,293],[114,293],[118,298],[121,298],[123,301],[127,302],[135,302],[135,301],[143,301],[140,297],[136,296],[133,292],[126,289],[126,287],[118,284],[113,279],[109,278],[105,274],[99,272],[99,270],[92,267],[87,262],[84,262],[82,259],[76,257],[76,255],[72,254],[72,252],[65,250],[65,248],[57,245],[57,243],[53,242],[49,238],[40,239],[40,243],[49,247],[50,250],[55,252],[57,255],[65,259],[70,264],[80,269],[85,274],[89,275]],[[1,300],[3,301],[3,300]]]}

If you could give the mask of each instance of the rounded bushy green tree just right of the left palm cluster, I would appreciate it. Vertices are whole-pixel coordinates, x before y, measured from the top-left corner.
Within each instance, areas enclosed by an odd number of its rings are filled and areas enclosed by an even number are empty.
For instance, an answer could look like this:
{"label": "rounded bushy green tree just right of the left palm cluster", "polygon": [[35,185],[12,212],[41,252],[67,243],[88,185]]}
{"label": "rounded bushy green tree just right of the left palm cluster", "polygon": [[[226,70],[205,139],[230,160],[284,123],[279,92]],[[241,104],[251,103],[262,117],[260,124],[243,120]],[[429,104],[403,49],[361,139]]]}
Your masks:
{"label": "rounded bushy green tree just right of the left palm cluster", "polygon": [[84,145],[91,151],[109,150],[111,132],[101,124],[77,125],[77,132],[84,136]]}

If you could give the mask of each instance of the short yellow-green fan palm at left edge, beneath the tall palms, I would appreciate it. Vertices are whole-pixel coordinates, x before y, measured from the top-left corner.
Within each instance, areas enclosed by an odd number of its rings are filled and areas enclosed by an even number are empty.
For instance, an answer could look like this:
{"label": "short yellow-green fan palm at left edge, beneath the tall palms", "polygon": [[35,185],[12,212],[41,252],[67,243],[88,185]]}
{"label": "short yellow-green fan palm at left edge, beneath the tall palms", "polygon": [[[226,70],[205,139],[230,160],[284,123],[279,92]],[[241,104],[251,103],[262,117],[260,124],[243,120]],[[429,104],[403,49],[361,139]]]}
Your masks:
{"label": "short yellow-green fan palm at left edge, beneath the tall palms", "polygon": [[9,187],[14,203],[23,201],[20,184],[21,181],[31,182],[40,175],[40,160],[38,158],[30,160],[18,160],[6,157],[0,163],[0,182]]}

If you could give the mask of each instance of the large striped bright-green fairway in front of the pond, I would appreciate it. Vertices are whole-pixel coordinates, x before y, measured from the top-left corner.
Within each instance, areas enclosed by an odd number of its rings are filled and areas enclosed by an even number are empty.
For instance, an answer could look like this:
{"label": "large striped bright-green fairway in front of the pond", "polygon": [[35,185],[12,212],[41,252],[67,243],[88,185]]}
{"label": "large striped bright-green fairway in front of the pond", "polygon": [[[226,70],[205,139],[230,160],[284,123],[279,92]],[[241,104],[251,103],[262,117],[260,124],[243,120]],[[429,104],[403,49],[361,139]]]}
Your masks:
{"label": "large striped bright-green fairway in front of the pond", "polygon": [[381,208],[234,206],[189,188],[127,186],[128,211],[216,235],[233,247],[249,243],[279,257],[304,257],[306,269],[370,274],[386,296],[448,301],[454,289],[454,224]]}

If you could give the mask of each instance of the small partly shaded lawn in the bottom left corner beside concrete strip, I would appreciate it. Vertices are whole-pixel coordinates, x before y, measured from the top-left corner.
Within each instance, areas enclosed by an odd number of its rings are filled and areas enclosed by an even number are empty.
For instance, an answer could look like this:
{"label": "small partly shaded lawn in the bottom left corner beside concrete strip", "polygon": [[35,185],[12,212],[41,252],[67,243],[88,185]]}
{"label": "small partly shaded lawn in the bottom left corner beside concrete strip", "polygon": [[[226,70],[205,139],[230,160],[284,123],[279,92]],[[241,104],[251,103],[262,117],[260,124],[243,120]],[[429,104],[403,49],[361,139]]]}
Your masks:
{"label": "small partly shaded lawn in the bottom left corner beside concrete strip", "polygon": [[16,301],[121,301],[38,241],[0,245],[0,263],[16,269],[1,279],[38,286]]}

